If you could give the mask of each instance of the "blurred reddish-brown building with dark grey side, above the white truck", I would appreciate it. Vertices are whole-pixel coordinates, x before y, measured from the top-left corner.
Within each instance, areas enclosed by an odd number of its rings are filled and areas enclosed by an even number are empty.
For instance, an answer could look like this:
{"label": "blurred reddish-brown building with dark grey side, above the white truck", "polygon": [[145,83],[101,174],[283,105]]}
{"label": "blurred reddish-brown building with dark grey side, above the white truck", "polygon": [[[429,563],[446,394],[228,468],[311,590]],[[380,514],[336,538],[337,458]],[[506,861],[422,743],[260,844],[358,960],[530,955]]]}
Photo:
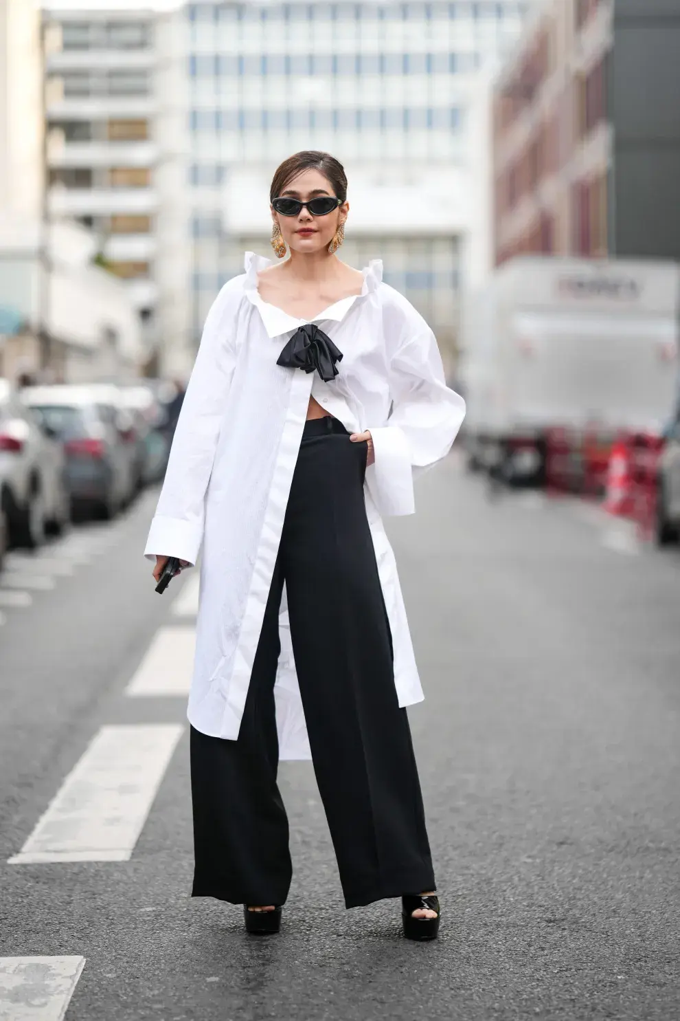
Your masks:
{"label": "blurred reddish-brown building with dark grey side, above the white truck", "polygon": [[680,258],[680,5],[551,0],[494,89],[495,260]]}

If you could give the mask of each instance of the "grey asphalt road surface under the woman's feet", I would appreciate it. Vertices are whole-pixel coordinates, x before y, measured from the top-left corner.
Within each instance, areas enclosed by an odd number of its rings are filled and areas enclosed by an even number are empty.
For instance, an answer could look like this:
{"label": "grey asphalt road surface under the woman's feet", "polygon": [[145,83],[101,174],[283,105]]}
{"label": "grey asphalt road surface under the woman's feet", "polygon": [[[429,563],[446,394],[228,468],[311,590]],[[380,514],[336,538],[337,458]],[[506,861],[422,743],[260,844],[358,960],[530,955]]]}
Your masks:
{"label": "grey asphalt road surface under the woman's feet", "polygon": [[[84,958],[66,1021],[680,1018],[680,551],[573,503],[489,501],[455,457],[426,475],[388,529],[440,938],[404,940],[398,901],[345,910],[298,763],[294,885],[258,938],[189,896],[184,695],[125,693],[160,627],[192,628],[172,614],[191,580],[159,598],[141,555],[154,501],[0,578],[0,958]],[[127,724],[182,728],[129,860],[6,864],[100,728]],[[3,1021],[60,1016],[49,962],[2,968]]]}

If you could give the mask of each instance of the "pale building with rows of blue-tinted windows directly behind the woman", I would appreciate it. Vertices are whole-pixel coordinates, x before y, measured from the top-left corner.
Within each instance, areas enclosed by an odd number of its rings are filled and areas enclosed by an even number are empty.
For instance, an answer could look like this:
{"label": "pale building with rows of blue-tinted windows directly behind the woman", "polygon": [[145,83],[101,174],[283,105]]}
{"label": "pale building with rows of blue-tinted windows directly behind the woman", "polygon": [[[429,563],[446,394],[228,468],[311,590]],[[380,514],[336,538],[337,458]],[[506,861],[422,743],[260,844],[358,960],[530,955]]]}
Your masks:
{"label": "pale building with rows of blue-tinted windows directly behind the woman", "polygon": [[343,258],[435,330],[451,368],[462,239],[474,230],[469,107],[527,2],[187,4],[193,330],[244,249],[271,254],[272,173],[300,149],[346,165]]}

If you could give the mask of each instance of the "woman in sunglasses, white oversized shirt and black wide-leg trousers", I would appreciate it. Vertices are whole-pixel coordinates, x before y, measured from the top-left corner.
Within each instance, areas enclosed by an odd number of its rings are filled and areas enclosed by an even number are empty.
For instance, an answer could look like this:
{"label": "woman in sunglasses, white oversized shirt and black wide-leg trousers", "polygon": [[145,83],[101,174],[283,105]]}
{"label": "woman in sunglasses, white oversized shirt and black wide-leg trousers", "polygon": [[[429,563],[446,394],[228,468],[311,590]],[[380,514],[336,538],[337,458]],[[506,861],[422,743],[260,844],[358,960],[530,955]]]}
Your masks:
{"label": "woman in sunglasses, white oversized shirt and black wide-leg trousers", "polygon": [[346,906],[402,895],[405,934],[429,939],[439,904],[404,708],[423,695],[380,515],[413,512],[413,474],[449,451],[464,403],[381,263],[335,255],[337,160],[292,156],[270,200],[290,258],[248,253],[208,313],[146,547],[158,580],[203,542],[192,892],[278,930],[277,764],[311,758]]}

